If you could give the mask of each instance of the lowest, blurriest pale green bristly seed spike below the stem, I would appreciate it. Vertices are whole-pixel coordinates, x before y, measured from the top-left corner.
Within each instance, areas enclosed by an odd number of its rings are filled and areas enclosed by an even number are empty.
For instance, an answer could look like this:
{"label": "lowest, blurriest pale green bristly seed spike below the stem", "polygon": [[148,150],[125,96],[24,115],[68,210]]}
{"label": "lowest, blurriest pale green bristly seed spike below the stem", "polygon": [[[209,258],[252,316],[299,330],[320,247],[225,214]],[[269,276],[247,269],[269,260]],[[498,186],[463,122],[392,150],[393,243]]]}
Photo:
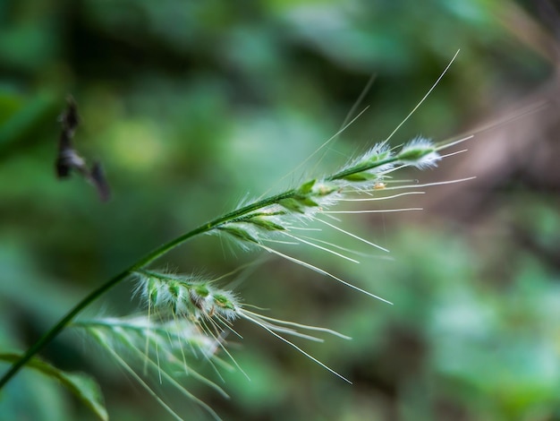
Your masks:
{"label": "lowest, blurriest pale green bristly seed spike below the stem", "polygon": [[[220,386],[193,368],[192,361],[203,358],[212,365],[231,369],[216,356],[216,340],[199,331],[192,322],[186,319],[156,321],[146,315],[138,315],[82,321],[72,326],[86,331],[175,419],[182,420],[182,417],[157,395],[157,383],[165,382],[174,387],[185,398],[205,408],[212,417],[220,419],[212,408],[182,384],[181,379],[189,377],[228,398]],[[140,369],[136,368],[140,366],[143,374],[139,374]]]}

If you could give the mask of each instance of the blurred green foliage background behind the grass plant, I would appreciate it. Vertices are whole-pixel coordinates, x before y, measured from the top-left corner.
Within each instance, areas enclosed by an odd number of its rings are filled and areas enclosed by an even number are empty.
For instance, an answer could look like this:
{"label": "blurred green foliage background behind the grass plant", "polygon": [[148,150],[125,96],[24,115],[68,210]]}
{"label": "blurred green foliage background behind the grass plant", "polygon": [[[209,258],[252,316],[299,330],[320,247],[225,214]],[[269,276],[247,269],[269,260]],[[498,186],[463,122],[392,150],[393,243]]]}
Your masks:
{"label": "blurred green foliage background behind the grass plant", "polygon": [[[1,1],[0,349],[28,347],[157,245],[384,140],[461,48],[394,144],[418,134],[442,141],[547,107],[410,174],[477,176],[388,205],[424,212],[344,220],[392,260],[297,252],[395,305],[276,259],[237,287],[267,314],[352,336],[301,346],[354,384],[239,323],[244,339],[228,339],[251,381],[225,373],[231,400],[196,383],[191,391],[225,419],[560,420],[557,16],[546,0]],[[279,183],[336,133],[374,73],[366,113],[319,166]],[[56,119],[69,93],[83,121],[76,147],[103,162],[110,202],[78,176],[55,178]],[[258,256],[203,237],[160,267],[221,275]],[[134,312],[132,288],[87,315]],[[112,419],[167,419],[93,349],[66,332],[42,356],[93,374]],[[189,401],[174,408],[208,419]],[[27,371],[0,396],[0,414],[93,419]]]}

